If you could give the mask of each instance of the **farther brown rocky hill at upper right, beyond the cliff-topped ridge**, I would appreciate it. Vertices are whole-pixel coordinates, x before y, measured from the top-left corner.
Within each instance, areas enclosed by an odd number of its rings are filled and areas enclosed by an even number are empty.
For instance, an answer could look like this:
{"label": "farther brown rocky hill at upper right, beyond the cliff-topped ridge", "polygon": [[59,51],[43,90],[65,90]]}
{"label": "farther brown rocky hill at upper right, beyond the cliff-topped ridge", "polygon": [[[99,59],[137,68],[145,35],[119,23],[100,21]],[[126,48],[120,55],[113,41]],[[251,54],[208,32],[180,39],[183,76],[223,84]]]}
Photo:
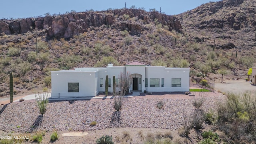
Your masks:
{"label": "farther brown rocky hill at upper right, beyond the cliff-topped ridge", "polygon": [[[256,0],[210,2],[177,15],[188,39],[255,58]],[[248,52],[248,53],[247,53]],[[250,66],[250,64],[248,65]]]}

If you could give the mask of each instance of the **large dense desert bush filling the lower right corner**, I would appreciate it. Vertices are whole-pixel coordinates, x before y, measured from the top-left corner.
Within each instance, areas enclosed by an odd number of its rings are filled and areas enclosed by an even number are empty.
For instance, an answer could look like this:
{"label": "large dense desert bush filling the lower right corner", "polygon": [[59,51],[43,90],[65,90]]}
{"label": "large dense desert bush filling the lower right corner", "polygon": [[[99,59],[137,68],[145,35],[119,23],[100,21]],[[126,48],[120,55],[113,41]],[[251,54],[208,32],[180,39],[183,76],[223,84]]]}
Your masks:
{"label": "large dense desert bush filling the lower right corner", "polygon": [[245,140],[245,143],[255,140],[256,116],[255,95],[228,93],[226,101],[218,105],[218,123],[234,143]]}

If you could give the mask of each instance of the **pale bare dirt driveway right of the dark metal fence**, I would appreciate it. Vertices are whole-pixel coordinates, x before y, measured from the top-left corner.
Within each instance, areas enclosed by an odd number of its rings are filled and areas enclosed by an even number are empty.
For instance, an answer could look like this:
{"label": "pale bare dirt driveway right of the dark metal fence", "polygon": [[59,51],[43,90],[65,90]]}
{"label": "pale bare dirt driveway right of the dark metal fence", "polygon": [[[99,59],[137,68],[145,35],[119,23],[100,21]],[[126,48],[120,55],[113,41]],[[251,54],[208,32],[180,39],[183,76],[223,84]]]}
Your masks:
{"label": "pale bare dirt driveway right of the dark metal fence", "polygon": [[225,80],[224,83],[215,82],[215,91],[243,93],[246,91],[256,92],[256,86],[245,80]]}

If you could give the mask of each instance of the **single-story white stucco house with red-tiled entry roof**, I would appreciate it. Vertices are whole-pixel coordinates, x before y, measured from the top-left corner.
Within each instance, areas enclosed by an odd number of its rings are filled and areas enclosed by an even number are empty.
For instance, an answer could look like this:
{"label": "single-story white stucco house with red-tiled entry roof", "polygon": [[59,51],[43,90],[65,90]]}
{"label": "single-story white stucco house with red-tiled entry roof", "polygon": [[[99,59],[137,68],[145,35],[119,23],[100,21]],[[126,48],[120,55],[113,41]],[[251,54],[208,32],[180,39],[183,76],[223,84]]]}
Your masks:
{"label": "single-story white stucco house with red-tiled entry roof", "polygon": [[74,68],[74,70],[52,71],[52,98],[92,97],[105,92],[108,75],[108,92],[113,92],[113,76],[130,72],[130,91],[185,92],[189,91],[190,68],[166,68],[149,66],[143,62],[128,62],[124,66],[108,64],[106,68]]}

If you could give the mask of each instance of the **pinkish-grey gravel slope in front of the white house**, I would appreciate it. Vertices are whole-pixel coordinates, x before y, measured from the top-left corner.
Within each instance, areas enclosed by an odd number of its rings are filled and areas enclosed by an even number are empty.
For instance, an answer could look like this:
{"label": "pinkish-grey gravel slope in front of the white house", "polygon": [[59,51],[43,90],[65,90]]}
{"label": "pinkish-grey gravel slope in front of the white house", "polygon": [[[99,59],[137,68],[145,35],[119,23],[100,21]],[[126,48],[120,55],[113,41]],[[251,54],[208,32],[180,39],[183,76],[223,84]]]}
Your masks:
{"label": "pinkish-grey gravel slope in front of the white house", "polygon": [[[197,92],[194,94],[198,95]],[[216,108],[223,101],[220,93],[206,93],[203,109]],[[184,94],[158,94],[126,98],[120,112],[114,110],[114,100],[50,102],[41,116],[34,100],[13,102],[4,110],[0,106],[0,130],[5,132],[30,132],[36,130],[88,131],[112,127],[163,128],[176,130],[182,126],[183,111],[194,109],[192,96]],[[158,101],[164,108],[156,108]],[[119,117],[120,116],[120,117]],[[90,126],[96,121],[96,126]]]}

